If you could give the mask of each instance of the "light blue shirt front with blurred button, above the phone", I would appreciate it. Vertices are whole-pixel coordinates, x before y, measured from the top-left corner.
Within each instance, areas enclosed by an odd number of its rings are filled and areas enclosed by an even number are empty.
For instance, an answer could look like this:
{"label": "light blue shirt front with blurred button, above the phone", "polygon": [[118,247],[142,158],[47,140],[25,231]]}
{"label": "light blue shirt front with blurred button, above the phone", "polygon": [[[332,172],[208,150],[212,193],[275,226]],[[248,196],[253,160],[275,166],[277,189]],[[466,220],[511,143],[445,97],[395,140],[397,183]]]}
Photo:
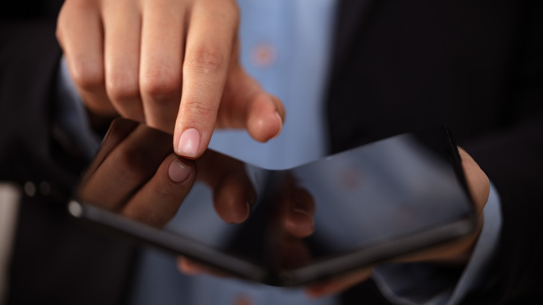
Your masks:
{"label": "light blue shirt front with blurred button, above the phone", "polygon": [[281,134],[268,143],[254,141],[244,130],[218,130],[210,147],[270,169],[323,157],[327,144],[323,104],[336,0],[238,3],[241,63],[283,101],[287,117]]}

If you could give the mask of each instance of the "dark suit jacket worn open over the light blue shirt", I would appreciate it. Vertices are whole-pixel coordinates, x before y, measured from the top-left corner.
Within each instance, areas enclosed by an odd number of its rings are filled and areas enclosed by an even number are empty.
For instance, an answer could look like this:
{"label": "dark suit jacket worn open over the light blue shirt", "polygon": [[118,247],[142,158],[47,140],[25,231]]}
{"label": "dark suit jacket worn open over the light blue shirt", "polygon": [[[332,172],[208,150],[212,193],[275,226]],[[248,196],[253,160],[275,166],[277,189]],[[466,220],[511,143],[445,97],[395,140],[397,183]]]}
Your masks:
{"label": "dark suit jacket worn open over the light blue shirt", "polygon": [[[542,296],[542,24],[541,1],[340,1],[331,152],[445,123],[501,195],[491,274],[465,304]],[[22,198],[10,304],[119,304],[134,248],[73,224],[61,204],[83,164],[54,126],[54,23],[0,25],[0,180],[54,190]],[[371,281],[345,302],[386,304]]]}

